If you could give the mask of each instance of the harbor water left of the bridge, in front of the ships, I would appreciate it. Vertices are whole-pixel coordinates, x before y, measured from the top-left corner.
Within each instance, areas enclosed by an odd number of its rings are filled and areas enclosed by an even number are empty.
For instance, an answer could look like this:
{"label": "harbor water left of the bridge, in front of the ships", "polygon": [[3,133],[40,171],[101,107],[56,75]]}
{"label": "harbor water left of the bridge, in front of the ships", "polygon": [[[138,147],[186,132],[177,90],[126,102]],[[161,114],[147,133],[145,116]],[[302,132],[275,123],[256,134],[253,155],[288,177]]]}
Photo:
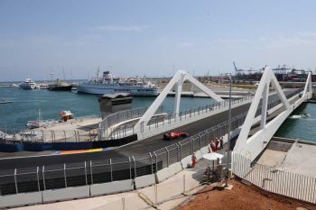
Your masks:
{"label": "harbor water left of the bridge, in front of the ships", "polygon": [[[25,124],[36,120],[39,110],[42,119],[60,119],[62,110],[70,110],[75,118],[101,117],[98,96],[77,94],[76,91],[49,91],[46,89],[23,90],[18,87],[0,87],[0,99],[13,101],[0,105],[0,131],[25,129]],[[149,107],[155,97],[134,97],[132,107]],[[163,102],[163,112],[172,113],[174,97]],[[209,105],[215,101],[210,98],[181,98],[181,110]]]}

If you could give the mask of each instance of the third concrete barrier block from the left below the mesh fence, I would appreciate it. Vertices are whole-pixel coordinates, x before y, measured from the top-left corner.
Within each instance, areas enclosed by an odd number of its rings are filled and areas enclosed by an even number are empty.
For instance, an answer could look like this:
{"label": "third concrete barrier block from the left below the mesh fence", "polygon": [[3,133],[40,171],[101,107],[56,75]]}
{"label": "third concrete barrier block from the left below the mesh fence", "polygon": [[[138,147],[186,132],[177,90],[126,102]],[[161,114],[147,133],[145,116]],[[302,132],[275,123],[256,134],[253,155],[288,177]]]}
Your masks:
{"label": "third concrete barrier block from the left below the mesh fence", "polygon": [[133,179],[127,179],[122,181],[113,181],[103,184],[94,184],[90,186],[91,196],[101,196],[107,194],[114,194],[119,192],[134,190]]}

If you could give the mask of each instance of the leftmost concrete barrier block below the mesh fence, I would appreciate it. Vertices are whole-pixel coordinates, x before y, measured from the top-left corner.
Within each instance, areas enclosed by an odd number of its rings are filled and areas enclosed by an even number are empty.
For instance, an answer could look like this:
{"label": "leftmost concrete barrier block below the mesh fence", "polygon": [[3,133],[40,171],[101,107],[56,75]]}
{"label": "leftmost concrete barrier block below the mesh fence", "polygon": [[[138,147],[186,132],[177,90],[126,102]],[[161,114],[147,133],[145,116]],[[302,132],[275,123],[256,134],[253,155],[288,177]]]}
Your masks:
{"label": "leftmost concrete barrier block below the mesh fence", "polygon": [[42,203],[42,192],[0,196],[0,208]]}

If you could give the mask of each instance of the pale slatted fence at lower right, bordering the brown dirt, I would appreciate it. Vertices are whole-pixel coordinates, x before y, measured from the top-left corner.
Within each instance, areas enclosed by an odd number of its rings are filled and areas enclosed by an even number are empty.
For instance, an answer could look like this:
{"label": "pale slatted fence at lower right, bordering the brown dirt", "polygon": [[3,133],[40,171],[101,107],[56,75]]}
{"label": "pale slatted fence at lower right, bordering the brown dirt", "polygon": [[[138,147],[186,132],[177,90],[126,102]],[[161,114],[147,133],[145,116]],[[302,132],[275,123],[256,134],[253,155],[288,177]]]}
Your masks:
{"label": "pale slatted fence at lower right, bordering the brown dirt", "polygon": [[252,164],[237,152],[232,153],[232,172],[266,191],[316,204],[315,177]]}

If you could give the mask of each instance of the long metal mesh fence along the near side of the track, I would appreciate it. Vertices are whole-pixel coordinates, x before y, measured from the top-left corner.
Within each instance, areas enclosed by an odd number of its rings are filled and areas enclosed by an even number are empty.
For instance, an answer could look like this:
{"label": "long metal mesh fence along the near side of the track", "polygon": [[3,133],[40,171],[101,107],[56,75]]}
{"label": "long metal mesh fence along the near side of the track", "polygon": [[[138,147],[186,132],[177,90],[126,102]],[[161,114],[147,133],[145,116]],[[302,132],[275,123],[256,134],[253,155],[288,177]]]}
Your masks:
{"label": "long metal mesh fence along the near side of the track", "polygon": [[[296,92],[295,92],[296,93]],[[294,96],[295,93],[288,97]],[[297,93],[296,93],[297,94]],[[274,98],[274,96],[271,96]],[[270,106],[281,101],[274,98]],[[260,106],[259,106],[260,107]],[[256,116],[261,114],[258,109]],[[246,113],[232,118],[231,131],[241,126]],[[190,138],[157,151],[110,160],[90,160],[84,162],[42,166],[36,168],[10,169],[0,171],[0,195],[42,191],[63,187],[85,186],[116,180],[136,178],[166,168],[199,151],[211,140],[228,133],[228,121],[219,123]]]}

